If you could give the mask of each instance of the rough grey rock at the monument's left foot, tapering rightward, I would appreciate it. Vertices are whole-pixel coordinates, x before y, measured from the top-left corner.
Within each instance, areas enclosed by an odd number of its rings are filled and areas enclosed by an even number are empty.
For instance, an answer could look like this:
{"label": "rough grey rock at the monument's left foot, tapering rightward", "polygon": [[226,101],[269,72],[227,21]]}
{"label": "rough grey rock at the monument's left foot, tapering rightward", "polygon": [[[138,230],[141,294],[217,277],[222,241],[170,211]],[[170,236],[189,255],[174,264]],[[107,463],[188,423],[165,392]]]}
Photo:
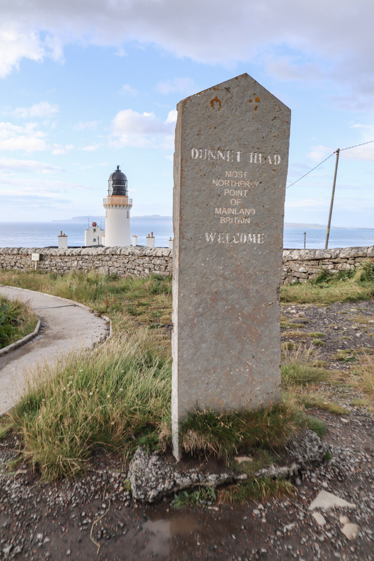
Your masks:
{"label": "rough grey rock at the monument's left foot, tapering rightward", "polygon": [[212,487],[247,479],[245,473],[224,471],[207,473],[198,468],[183,470],[174,460],[167,462],[157,453],[145,453],[139,447],[130,462],[127,474],[133,491],[133,498],[143,503],[154,503],[163,496],[177,493],[182,489]]}

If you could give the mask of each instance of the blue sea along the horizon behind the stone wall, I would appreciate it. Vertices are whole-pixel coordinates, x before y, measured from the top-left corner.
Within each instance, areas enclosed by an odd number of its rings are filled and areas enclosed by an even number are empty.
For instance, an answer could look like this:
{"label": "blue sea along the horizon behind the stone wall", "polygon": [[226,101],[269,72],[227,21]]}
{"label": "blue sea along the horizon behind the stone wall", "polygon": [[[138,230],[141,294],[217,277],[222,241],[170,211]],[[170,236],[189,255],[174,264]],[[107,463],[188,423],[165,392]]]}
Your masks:
{"label": "blue sea along the horizon behind the stone wall", "polygon": [[[100,226],[98,222],[98,226]],[[57,236],[62,230],[68,236],[69,247],[84,247],[84,230],[87,222],[0,222],[0,247],[57,247]],[[104,223],[102,224],[104,228]],[[173,237],[172,220],[162,223],[152,220],[131,219],[131,236],[138,236],[138,245],[145,245],[145,237],[153,232],[156,247],[168,247]],[[285,249],[323,249],[324,228],[285,226]],[[331,228],[329,247],[355,247],[374,245],[374,229]]]}

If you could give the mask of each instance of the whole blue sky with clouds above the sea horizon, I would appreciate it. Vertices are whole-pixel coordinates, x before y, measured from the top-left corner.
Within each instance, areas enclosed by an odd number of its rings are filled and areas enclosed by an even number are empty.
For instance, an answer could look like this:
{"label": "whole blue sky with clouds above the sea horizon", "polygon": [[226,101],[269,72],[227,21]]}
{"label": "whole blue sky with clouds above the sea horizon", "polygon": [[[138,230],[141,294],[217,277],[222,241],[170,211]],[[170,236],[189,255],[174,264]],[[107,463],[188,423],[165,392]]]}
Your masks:
{"label": "whole blue sky with clouds above the sea horizon", "polygon": [[[0,0],[0,220],[172,214],[176,104],[247,72],[291,109],[287,185],[374,140],[372,0]],[[286,190],[326,224],[335,154]],[[342,150],[332,225],[374,228],[374,142]]]}

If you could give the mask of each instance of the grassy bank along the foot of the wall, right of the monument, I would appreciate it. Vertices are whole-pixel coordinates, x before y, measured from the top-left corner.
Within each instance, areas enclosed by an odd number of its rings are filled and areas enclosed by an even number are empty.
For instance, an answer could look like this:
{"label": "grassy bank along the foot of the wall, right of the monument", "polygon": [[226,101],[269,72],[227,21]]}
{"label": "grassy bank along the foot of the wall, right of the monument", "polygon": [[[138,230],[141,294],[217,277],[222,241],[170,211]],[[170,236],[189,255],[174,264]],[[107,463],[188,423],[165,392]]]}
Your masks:
{"label": "grassy bank along the foot of the wall, right of the monument", "polygon": [[332,304],[358,302],[374,296],[374,272],[371,261],[334,275],[322,271],[315,280],[281,287],[281,301],[295,304]]}

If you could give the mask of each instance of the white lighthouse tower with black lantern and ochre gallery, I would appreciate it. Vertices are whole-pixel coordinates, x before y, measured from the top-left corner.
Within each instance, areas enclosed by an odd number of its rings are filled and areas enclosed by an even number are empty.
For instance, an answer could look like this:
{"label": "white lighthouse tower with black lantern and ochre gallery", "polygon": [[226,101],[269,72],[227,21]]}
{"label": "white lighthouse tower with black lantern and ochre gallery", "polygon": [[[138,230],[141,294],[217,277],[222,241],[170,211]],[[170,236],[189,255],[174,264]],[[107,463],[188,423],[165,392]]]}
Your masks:
{"label": "white lighthouse tower with black lantern and ochre gallery", "polygon": [[105,209],[105,245],[130,245],[130,209],[133,199],[127,196],[127,177],[117,165],[108,180],[108,196],[103,200]]}

